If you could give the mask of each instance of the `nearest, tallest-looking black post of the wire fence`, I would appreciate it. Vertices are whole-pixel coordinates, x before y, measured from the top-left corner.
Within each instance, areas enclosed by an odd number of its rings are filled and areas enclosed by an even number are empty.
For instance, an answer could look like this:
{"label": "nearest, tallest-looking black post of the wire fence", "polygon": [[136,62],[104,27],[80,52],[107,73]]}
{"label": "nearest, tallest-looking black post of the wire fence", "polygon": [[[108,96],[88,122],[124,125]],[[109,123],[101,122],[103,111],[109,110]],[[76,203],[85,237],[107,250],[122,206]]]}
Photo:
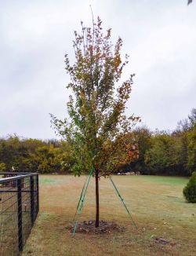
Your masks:
{"label": "nearest, tallest-looking black post of the wire fence", "polygon": [[23,251],[23,207],[21,193],[21,179],[17,180],[17,201],[18,201],[18,249]]}

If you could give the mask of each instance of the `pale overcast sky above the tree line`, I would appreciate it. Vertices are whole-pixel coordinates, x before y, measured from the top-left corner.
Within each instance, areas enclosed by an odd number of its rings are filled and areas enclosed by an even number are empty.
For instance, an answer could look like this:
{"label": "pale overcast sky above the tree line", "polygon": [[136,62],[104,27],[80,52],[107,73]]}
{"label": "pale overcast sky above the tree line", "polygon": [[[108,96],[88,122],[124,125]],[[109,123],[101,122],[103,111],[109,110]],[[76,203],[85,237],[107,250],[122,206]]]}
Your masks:
{"label": "pale overcast sky above the tree line", "polygon": [[64,54],[91,12],[124,41],[124,78],[136,73],[127,113],[172,130],[196,107],[196,1],[0,0],[0,137],[52,138],[49,113],[67,115]]}

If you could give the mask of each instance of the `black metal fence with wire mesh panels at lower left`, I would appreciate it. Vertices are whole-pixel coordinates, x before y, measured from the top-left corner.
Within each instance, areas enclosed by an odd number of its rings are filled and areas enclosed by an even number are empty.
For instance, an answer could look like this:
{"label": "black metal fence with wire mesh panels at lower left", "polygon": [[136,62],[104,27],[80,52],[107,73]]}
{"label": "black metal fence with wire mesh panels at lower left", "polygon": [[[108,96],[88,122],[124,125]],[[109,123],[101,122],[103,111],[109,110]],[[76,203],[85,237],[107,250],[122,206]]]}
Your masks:
{"label": "black metal fence with wire mesh panels at lower left", "polygon": [[23,251],[38,210],[38,174],[0,173],[1,256]]}

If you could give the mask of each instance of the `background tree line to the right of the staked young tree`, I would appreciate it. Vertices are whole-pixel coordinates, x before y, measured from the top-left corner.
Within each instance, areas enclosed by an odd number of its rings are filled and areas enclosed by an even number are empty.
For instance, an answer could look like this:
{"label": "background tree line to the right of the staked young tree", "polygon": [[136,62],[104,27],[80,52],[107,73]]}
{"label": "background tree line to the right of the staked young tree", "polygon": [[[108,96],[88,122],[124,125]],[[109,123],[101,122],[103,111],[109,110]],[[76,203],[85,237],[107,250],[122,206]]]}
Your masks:
{"label": "background tree line to the right of the staked young tree", "polygon": [[176,129],[151,131],[143,126],[134,132],[139,147],[139,157],[124,166],[124,170],[141,174],[189,176],[196,170],[196,109]]}

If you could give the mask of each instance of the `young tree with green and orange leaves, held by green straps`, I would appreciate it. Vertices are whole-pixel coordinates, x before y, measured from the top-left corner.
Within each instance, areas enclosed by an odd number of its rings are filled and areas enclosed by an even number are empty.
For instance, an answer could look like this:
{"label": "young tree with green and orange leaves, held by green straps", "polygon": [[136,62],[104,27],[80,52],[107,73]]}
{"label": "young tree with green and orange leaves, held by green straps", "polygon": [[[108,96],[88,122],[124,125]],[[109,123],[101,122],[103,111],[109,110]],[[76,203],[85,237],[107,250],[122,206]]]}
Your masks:
{"label": "young tree with green and orange leaves, held by green straps", "polygon": [[71,82],[70,101],[67,103],[69,119],[53,117],[60,135],[71,144],[74,174],[93,166],[96,180],[96,227],[99,226],[99,177],[110,175],[119,166],[136,158],[136,141],[132,126],[139,120],[125,116],[132,77],[119,85],[128,55],[122,61],[122,38],[113,46],[111,29],[103,35],[102,21],[98,17],[93,27],[84,27],[82,33],[74,31],[74,64],[67,55],[65,64]]}

